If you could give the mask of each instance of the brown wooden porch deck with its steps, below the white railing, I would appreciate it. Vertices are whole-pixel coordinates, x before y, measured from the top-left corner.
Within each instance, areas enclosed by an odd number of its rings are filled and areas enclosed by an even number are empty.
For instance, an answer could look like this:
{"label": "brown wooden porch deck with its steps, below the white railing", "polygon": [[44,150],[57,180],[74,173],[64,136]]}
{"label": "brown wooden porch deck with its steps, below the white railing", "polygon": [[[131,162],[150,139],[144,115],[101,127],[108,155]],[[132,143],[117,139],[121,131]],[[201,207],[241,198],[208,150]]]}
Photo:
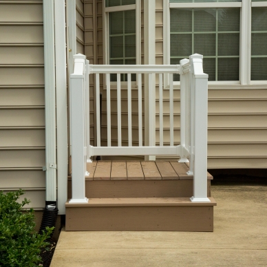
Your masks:
{"label": "brown wooden porch deck with its steps, below the white railing", "polygon": [[[94,161],[87,163],[88,203],[66,203],[66,231],[213,231],[209,203],[194,203],[189,166],[177,161]],[[68,179],[72,197],[72,178]]]}

